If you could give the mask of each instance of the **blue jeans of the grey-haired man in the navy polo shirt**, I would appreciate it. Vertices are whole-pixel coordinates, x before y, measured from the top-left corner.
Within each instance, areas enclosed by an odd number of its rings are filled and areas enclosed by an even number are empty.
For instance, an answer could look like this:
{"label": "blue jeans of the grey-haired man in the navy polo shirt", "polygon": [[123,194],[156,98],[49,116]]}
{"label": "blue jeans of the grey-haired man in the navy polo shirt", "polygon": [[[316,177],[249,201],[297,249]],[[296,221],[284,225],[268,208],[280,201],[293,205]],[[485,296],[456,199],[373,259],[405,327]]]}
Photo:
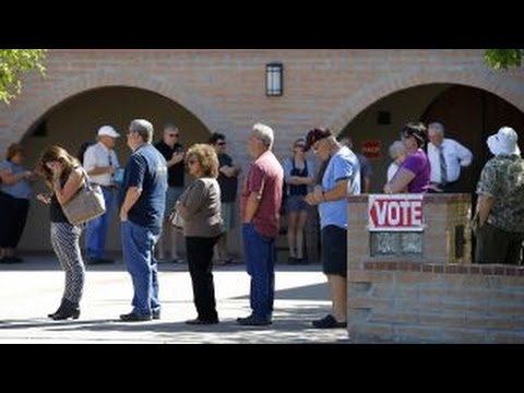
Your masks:
{"label": "blue jeans of the grey-haired man in the navy polo shirt", "polygon": [[133,224],[122,223],[123,261],[133,281],[133,312],[151,315],[160,310],[158,300],[158,272],[154,248],[158,241],[160,228],[152,230]]}

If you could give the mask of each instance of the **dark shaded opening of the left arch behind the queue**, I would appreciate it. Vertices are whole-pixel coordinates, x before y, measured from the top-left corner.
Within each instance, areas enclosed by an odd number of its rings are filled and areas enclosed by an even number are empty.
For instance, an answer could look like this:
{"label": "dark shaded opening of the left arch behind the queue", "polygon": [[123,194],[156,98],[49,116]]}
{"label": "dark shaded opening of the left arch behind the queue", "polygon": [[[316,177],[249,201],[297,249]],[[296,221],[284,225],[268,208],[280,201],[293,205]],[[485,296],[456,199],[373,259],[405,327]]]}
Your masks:
{"label": "dark shaded opening of the left arch behind the queue", "polygon": [[[111,124],[122,134],[115,151],[123,166],[130,155],[124,134],[134,118],[148,119],[153,123],[155,142],[162,139],[162,130],[167,122],[175,122],[180,128],[180,142],[187,147],[196,142],[206,142],[210,135],[210,130],[199,118],[163,95],[124,86],[100,87],[59,103],[33,123],[22,141],[27,148],[25,165],[33,168],[43,150],[51,144],[59,144],[76,154],[82,143],[95,141],[100,126]],[[37,181],[34,191],[45,192],[44,183]],[[32,202],[20,249],[50,250],[48,214],[46,206],[37,201]],[[108,251],[121,250],[117,215],[115,212],[109,227]]]}

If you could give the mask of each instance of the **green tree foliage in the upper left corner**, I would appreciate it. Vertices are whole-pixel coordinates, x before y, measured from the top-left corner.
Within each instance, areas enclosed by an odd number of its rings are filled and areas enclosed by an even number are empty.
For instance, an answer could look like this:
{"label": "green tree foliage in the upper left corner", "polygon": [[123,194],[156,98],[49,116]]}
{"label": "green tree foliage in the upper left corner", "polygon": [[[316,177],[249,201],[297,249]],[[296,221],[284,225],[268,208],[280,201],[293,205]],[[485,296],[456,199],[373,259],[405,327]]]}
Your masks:
{"label": "green tree foliage in the upper left corner", "polygon": [[24,73],[36,69],[45,74],[46,49],[0,49],[0,102],[9,104],[22,91]]}

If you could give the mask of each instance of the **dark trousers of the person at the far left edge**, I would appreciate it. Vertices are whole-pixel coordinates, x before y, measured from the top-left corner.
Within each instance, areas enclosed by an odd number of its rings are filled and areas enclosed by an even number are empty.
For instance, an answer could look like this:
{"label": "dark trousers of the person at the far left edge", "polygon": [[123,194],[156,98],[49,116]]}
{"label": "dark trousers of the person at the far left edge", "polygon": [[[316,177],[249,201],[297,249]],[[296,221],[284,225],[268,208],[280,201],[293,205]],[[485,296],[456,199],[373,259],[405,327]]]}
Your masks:
{"label": "dark trousers of the person at the far left edge", "polygon": [[29,200],[0,191],[0,247],[16,248],[24,231]]}

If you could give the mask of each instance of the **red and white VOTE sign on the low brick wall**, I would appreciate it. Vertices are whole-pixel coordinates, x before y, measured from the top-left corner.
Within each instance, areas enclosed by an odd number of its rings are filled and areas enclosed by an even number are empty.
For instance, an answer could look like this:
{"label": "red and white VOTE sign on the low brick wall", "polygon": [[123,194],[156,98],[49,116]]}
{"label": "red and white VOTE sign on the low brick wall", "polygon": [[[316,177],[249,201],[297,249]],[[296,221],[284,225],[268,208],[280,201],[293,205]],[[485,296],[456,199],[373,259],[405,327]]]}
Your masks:
{"label": "red and white VOTE sign on the low brick wall", "polygon": [[370,231],[424,231],[422,194],[371,194]]}

